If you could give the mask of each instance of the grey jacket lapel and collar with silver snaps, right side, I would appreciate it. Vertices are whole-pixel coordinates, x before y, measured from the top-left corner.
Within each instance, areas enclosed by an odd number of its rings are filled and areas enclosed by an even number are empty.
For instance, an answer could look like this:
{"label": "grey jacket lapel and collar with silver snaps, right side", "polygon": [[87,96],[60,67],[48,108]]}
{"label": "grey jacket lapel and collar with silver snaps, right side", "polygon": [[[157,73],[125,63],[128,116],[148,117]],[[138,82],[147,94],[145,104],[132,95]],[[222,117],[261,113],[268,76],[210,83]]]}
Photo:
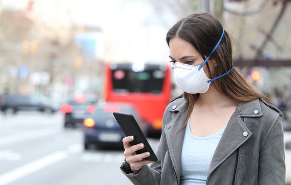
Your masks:
{"label": "grey jacket lapel and collar with silver snaps, right side", "polygon": [[260,117],[262,116],[259,100],[253,100],[248,103],[239,103],[232,114],[220,142],[215,150],[210,163],[208,177],[211,173],[223,163],[237,148],[244,144],[252,133],[242,121],[242,117]]}

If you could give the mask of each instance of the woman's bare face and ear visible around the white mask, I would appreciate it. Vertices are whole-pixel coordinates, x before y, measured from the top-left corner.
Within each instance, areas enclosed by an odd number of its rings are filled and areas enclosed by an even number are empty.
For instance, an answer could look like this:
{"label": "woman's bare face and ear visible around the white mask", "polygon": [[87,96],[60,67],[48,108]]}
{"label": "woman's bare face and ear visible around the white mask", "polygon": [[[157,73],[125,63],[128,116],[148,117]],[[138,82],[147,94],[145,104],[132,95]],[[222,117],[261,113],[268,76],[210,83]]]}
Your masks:
{"label": "woman's bare face and ear visible around the white mask", "polygon": [[[170,40],[169,47],[170,47],[169,57],[173,64],[175,62],[181,62],[183,64],[200,66],[204,62],[204,59],[195,49],[195,47],[186,40],[174,37]],[[210,67],[210,72],[212,73],[213,72],[212,66],[214,61],[208,60],[207,63]],[[209,73],[206,65],[203,66],[203,70],[207,77],[209,78]]]}

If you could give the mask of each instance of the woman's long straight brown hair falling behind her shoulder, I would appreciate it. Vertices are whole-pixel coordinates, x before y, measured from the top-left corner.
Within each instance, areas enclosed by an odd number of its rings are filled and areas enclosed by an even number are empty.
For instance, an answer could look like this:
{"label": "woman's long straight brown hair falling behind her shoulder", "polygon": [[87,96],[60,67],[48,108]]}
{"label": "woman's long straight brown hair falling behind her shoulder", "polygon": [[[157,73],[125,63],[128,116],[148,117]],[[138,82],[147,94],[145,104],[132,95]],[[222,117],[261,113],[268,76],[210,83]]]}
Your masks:
{"label": "woman's long straight brown hair falling behind her shoulder", "polygon": [[[192,14],[188,17],[179,20],[168,31],[166,41],[169,45],[170,40],[174,37],[181,38],[190,42],[200,55],[205,60],[213,50],[223,32],[221,23],[212,15],[208,13]],[[229,34],[225,31],[224,36],[209,58],[217,63],[213,74],[210,73],[209,65],[206,66],[210,75],[213,78],[225,73],[232,67],[232,41]],[[235,66],[233,70],[227,75],[218,78],[211,82],[214,87],[222,94],[235,102],[248,102],[257,98],[262,98],[264,101],[271,103],[270,98],[255,89],[247,80],[246,76]],[[183,127],[194,108],[194,103],[199,94],[189,94],[184,92],[183,97],[189,101],[188,115]]]}

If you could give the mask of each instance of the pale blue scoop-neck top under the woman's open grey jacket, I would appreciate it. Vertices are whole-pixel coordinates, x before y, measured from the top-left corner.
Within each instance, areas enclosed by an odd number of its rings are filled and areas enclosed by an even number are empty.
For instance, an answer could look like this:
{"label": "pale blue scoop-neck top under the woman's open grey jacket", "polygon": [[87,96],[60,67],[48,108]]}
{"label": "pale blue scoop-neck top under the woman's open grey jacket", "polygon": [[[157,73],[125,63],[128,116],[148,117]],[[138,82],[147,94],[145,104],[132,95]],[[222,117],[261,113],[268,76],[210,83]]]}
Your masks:
{"label": "pale blue scoop-neck top under the woman's open grey jacket", "polygon": [[188,120],[181,155],[181,185],[205,185],[212,157],[225,127],[214,135],[196,137],[190,131]]}

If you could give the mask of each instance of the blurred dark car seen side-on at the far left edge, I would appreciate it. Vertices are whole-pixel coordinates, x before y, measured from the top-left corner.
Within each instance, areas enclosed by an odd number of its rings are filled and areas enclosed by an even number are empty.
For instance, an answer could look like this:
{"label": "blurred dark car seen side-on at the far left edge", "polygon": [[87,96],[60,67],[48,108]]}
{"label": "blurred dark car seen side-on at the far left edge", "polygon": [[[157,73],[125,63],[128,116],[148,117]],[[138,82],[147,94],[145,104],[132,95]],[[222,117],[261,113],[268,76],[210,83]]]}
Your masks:
{"label": "blurred dark car seen side-on at the far left edge", "polygon": [[16,114],[18,111],[55,113],[58,109],[42,96],[6,94],[2,97],[1,110],[4,113]]}

